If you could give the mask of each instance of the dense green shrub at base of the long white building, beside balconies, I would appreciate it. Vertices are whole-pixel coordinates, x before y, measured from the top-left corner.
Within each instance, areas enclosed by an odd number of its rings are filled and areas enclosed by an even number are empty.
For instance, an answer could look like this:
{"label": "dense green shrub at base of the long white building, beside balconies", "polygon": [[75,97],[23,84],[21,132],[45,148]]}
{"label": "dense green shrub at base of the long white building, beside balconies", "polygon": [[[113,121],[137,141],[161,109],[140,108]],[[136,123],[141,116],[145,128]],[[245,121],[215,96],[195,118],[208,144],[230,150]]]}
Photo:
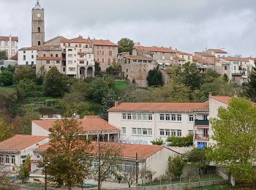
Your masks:
{"label": "dense green shrub at base of the long white building, beside balconies", "polygon": [[192,146],[193,145],[193,134],[189,133],[187,137],[167,137],[167,142],[170,146]]}

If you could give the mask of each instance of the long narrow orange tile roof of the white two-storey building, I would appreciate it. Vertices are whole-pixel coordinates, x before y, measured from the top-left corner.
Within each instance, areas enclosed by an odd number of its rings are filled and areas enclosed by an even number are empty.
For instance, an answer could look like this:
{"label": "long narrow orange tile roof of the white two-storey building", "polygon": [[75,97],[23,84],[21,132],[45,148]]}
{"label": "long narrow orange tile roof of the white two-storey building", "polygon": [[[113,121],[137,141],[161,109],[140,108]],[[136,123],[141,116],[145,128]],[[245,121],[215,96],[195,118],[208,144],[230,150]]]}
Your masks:
{"label": "long narrow orange tile roof of the white two-storey building", "polygon": [[208,110],[209,104],[203,103],[149,103],[149,102],[137,102],[137,103],[121,103],[114,107],[110,107],[108,111],[192,111],[192,110]]}

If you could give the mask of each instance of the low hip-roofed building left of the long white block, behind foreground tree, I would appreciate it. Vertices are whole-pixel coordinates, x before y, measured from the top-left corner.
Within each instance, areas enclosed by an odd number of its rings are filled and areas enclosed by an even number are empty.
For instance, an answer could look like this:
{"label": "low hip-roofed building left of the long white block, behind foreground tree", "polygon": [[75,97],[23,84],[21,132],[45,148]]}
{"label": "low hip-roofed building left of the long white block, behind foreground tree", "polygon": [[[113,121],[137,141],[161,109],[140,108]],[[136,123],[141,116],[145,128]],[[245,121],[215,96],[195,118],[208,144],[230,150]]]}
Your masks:
{"label": "low hip-roofed building left of the long white block, behind foreground tree", "polygon": [[[56,118],[33,120],[31,134],[48,137],[50,134],[49,129],[53,127],[57,120]],[[110,142],[117,141],[119,138],[120,130],[97,115],[86,115],[82,119],[77,119],[77,121],[80,122],[80,126],[84,130],[84,134],[80,135],[80,139]]]}

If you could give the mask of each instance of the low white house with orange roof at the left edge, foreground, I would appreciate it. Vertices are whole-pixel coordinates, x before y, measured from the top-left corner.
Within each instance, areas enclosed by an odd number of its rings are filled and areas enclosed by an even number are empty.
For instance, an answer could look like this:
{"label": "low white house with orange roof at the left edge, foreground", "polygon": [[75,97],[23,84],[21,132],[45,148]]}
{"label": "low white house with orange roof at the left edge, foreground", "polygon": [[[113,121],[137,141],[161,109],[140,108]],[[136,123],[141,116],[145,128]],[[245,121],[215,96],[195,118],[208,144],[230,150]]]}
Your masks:
{"label": "low white house with orange roof at the left edge, foreground", "polygon": [[14,167],[20,166],[26,161],[26,156],[31,156],[30,170],[37,169],[37,160],[41,156],[33,151],[48,142],[48,137],[16,134],[8,140],[0,142],[0,163],[7,166],[7,170],[15,172]]}

